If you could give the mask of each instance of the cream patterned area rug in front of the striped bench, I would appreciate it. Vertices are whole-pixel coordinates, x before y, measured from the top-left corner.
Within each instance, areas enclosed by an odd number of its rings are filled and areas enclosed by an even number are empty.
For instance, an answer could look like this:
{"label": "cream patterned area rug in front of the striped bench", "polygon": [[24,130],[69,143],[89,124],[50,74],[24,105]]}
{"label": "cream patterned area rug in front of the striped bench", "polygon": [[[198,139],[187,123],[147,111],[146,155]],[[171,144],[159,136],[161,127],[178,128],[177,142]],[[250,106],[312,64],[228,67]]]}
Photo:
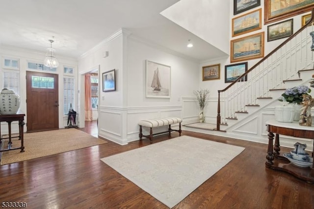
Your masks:
{"label": "cream patterned area rug in front of the striped bench", "polygon": [[244,149],[180,136],[101,160],[172,208]]}

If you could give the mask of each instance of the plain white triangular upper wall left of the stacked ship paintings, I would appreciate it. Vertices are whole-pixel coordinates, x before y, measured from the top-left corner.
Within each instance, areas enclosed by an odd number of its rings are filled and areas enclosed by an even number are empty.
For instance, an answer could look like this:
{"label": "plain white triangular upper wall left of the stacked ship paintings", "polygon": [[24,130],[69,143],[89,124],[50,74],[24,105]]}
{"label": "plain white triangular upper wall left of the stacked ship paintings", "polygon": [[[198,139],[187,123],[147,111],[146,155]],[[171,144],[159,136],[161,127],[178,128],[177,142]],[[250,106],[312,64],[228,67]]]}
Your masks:
{"label": "plain white triangular upper wall left of the stacked ship paintings", "polygon": [[160,14],[229,54],[230,7],[233,1],[180,0]]}

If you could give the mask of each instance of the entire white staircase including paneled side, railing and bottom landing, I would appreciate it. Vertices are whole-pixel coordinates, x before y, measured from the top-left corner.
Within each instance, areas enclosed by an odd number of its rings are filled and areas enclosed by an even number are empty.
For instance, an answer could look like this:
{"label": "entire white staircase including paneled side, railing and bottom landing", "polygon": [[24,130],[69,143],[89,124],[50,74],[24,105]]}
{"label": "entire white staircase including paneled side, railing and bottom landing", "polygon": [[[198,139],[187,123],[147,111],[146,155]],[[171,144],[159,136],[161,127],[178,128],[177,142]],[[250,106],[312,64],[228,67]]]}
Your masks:
{"label": "entire white staircase including paneled side, railing and bottom landing", "polygon": [[[265,122],[274,118],[275,106],[281,104],[278,101],[281,94],[286,88],[302,84],[309,86],[314,74],[310,36],[313,20],[314,16],[241,77],[225,89],[218,90],[216,131],[184,129],[268,144]],[[247,81],[244,81],[245,77]],[[308,139],[282,135],[280,143],[281,146],[293,148],[296,140],[306,143],[307,150],[313,150],[313,141]]]}

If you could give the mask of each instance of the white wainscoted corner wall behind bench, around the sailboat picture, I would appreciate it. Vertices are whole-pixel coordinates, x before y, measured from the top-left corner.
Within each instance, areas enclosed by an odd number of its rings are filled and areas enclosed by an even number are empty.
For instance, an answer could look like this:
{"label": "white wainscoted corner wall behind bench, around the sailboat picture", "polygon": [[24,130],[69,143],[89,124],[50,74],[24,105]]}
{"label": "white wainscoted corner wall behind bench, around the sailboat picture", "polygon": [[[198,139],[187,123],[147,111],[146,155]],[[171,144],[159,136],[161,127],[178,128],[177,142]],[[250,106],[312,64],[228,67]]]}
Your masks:
{"label": "white wainscoted corner wall behind bench, around the sailboat picture", "polygon": [[[104,58],[102,55],[105,51],[108,51],[108,56]],[[147,59],[171,66],[170,99],[145,97]],[[132,38],[124,30],[117,31],[80,58],[80,94],[84,92],[81,75],[97,64],[100,65],[100,75],[116,69],[116,91],[101,91],[100,94],[98,134],[119,144],[138,140],[137,122],[141,119],[183,117],[182,98],[190,97],[193,100],[192,92],[199,84],[199,63],[162,52],[149,43]],[[100,88],[103,88],[102,83]],[[83,114],[83,104],[79,108]]]}

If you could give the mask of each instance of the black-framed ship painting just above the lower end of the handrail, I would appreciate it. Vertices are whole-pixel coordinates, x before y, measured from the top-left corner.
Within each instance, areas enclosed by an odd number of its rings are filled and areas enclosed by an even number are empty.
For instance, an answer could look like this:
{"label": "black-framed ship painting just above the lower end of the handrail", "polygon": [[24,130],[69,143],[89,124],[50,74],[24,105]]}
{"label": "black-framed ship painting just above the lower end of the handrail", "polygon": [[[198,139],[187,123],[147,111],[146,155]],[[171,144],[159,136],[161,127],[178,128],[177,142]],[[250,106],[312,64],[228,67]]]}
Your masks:
{"label": "black-framed ship painting just above the lower end of the handrail", "polygon": [[[247,71],[247,62],[225,65],[225,83],[231,83]],[[239,81],[247,81],[247,76]]]}

